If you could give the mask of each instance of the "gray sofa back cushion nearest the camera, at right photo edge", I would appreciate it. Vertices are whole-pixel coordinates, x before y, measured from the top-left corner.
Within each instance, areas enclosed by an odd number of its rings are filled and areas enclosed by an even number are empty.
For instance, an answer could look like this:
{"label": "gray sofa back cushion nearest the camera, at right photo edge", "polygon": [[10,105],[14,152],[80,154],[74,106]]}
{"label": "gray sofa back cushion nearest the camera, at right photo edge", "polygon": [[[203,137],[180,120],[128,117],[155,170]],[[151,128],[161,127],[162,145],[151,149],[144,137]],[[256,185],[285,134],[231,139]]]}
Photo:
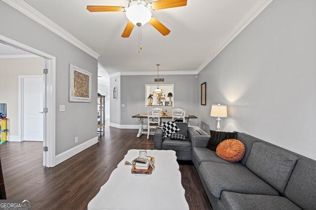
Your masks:
{"label": "gray sofa back cushion nearest the camera, at right photo edge", "polygon": [[299,159],[288,181],[285,196],[306,210],[316,210],[316,161]]}

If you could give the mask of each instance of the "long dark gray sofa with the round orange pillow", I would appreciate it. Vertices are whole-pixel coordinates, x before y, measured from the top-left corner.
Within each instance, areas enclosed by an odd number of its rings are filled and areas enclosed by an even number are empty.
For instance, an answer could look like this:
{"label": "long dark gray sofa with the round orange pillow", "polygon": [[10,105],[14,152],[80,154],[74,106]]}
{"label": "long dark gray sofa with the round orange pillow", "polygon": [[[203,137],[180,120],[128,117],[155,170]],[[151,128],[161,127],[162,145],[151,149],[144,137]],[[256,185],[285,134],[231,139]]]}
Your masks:
{"label": "long dark gray sofa with the round orange pillow", "polygon": [[214,210],[316,210],[316,161],[245,133],[237,163],[206,149],[210,136],[190,132],[192,160]]}

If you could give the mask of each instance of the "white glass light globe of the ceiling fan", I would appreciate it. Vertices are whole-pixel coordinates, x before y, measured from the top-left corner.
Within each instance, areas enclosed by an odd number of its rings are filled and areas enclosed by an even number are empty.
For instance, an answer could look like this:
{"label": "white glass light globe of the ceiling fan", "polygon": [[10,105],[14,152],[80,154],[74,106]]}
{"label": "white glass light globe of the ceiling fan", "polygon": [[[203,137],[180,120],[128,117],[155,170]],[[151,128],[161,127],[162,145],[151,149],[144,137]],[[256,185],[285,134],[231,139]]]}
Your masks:
{"label": "white glass light globe of the ceiling fan", "polygon": [[144,26],[152,18],[152,13],[143,5],[131,5],[126,9],[126,17],[134,25],[141,23]]}

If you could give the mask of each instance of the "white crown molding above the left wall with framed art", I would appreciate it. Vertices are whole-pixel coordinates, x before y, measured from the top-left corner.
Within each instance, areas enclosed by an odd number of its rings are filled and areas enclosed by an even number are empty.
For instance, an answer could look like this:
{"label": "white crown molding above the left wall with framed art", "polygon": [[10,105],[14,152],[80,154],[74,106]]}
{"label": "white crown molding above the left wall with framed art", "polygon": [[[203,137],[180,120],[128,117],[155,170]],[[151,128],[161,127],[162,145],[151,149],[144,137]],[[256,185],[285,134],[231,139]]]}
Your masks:
{"label": "white crown molding above the left wall with framed art", "polygon": [[2,0],[5,3],[9,4],[16,10],[20,11],[21,13],[25,14],[32,20],[38,22],[43,27],[47,28],[48,30],[51,30],[52,32],[56,33],[60,37],[64,38],[65,40],[69,41],[76,47],[78,47],[80,50],[83,50],[90,56],[92,56],[95,59],[98,59],[100,55],[96,53],[94,50],[89,48],[87,45],[83,44],[79,39],[77,39],[75,36],[55,24],[53,21],[48,19],[46,16],[41,14],[39,11],[34,9],[32,6],[27,4],[23,0]]}

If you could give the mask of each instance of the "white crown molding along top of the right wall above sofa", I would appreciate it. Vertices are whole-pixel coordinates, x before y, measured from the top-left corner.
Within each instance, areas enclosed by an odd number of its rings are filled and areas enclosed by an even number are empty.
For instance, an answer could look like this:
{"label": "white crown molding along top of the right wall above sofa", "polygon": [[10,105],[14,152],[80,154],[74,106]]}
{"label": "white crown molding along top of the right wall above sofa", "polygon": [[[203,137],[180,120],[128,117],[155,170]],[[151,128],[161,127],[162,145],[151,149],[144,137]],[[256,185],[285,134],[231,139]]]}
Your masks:
{"label": "white crown molding along top of the right wall above sofa", "polygon": [[197,69],[199,73],[205,66],[211,62],[234,38],[244,30],[273,0],[258,0],[254,6],[246,13],[246,15],[238,23],[237,27],[227,36],[221,44],[218,46],[217,50],[213,51],[208,59],[205,60]]}

